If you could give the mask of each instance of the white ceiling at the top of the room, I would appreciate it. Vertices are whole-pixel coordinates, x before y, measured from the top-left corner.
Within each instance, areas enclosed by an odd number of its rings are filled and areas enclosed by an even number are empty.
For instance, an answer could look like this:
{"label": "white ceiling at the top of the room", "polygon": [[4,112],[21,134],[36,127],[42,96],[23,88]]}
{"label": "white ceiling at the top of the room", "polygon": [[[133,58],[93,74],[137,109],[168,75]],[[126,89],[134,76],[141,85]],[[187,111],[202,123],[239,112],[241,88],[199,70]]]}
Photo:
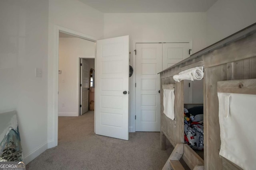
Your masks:
{"label": "white ceiling at the top of the room", "polygon": [[217,0],[80,0],[103,13],[206,12]]}

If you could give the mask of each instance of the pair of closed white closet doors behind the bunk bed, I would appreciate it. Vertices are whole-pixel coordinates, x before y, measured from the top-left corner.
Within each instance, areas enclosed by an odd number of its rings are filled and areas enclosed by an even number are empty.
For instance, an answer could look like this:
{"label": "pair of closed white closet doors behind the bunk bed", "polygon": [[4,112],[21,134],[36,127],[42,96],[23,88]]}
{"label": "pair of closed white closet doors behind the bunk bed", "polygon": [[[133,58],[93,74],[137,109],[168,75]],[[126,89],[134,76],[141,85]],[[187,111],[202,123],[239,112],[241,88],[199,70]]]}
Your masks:
{"label": "pair of closed white closet doors behind the bunk bed", "polygon": [[136,43],[136,131],[160,131],[158,72],[189,56],[189,43]]}

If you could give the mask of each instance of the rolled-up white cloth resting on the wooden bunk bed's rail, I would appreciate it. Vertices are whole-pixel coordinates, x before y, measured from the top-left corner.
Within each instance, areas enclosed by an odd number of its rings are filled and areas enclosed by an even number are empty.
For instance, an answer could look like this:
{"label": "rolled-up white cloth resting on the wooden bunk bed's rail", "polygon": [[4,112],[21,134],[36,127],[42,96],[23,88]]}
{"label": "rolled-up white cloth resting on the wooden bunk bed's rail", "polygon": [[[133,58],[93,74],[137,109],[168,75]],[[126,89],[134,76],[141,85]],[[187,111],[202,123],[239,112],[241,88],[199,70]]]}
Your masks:
{"label": "rolled-up white cloth resting on the wooden bunk bed's rail", "polygon": [[173,79],[176,82],[180,82],[180,80],[202,80],[204,78],[204,67],[195,67],[190,68],[188,70],[182,71],[179,74],[173,76]]}

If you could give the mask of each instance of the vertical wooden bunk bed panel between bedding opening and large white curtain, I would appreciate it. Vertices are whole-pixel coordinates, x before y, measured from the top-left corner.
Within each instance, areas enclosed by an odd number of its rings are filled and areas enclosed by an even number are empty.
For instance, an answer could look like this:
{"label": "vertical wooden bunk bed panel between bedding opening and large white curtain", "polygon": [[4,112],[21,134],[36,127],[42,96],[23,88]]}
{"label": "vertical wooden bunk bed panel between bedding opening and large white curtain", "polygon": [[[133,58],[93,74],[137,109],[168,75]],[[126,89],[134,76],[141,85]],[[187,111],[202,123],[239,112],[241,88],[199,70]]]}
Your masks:
{"label": "vertical wooden bunk bed panel between bedding opening and large white curtain", "polygon": [[205,68],[204,74],[204,168],[221,170],[217,82],[226,80],[226,64]]}

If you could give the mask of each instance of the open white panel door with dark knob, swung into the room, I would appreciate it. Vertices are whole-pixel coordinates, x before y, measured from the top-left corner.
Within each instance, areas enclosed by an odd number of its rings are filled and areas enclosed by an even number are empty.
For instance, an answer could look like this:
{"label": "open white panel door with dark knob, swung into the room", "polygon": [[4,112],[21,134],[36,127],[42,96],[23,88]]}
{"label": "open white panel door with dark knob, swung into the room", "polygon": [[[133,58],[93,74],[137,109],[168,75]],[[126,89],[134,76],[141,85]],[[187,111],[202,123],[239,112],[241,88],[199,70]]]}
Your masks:
{"label": "open white panel door with dark knob, swung into the room", "polygon": [[95,75],[95,133],[128,140],[129,36],[97,41]]}

